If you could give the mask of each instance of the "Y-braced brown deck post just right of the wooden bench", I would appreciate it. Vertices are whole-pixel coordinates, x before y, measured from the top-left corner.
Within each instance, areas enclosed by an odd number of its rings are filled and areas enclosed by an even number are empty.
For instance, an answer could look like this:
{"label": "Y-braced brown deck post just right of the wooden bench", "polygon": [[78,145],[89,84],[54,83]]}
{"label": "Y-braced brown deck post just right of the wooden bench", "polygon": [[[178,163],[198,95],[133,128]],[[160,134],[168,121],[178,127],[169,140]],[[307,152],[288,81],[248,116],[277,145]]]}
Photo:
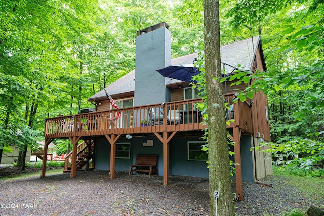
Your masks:
{"label": "Y-braced brown deck post just right of the wooden bench", "polygon": [[174,131],[169,136],[168,132],[164,131],[163,135],[154,132],[155,136],[163,144],[163,185],[169,185],[169,142],[177,132]]}

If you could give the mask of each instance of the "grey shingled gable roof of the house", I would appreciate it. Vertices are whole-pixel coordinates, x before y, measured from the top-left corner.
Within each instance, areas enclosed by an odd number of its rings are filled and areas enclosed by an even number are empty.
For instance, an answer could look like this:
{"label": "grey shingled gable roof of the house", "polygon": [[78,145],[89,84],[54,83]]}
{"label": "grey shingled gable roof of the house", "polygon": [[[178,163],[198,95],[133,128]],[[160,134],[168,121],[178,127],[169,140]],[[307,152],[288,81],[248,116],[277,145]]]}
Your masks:
{"label": "grey shingled gable roof of the house", "polygon": [[[242,70],[252,70],[253,61],[256,55],[256,51],[260,42],[260,37],[255,36],[245,40],[240,40],[233,42],[228,45],[221,46],[221,62],[229,64],[233,67],[240,65],[239,69]],[[184,65],[192,64],[195,58],[199,58],[197,53],[188,54],[185,56],[180,56],[177,58],[171,59],[171,65]],[[223,65],[222,65],[223,68]],[[230,66],[225,66],[225,73],[229,74],[233,71],[233,68]],[[156,71],[156,73],[158,73]],[[165,84],[174,84],[183,82],[177,79],[165,78]],[[135,70],[132,70],[123,77],[120,77],[108,87],[105,88],[110,95],[116,95],[121,93],[129,93],[135,91]],[[106,97],[104,90],[101,90],[97,94],[88,98],[88,101],[93,101]]]}

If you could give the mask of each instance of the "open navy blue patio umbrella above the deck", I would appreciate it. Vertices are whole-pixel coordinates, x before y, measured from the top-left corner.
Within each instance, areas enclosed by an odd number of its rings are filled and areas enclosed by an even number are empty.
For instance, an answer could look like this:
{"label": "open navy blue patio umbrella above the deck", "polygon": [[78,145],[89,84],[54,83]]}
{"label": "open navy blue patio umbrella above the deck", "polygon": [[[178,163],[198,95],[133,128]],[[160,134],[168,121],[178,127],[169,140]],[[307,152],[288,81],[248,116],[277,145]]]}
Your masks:
{"label": "open navy blue patio umbrella above the deck", "polygon": [[170,65],[169,67],[156,70],[164,77],[178,79],[185,82],[192,81],[192,76],[199,74],[199,69],[191,65]]}

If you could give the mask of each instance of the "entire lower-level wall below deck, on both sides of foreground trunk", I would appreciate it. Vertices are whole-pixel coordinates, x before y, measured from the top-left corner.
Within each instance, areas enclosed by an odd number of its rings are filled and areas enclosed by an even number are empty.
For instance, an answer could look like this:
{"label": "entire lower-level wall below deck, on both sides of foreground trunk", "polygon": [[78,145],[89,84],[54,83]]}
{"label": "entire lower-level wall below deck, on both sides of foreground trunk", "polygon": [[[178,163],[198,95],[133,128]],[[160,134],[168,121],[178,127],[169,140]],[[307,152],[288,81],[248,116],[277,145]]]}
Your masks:
{"label": "entire lower-level wall below deck, on both sides of foreground trunk", "polygon": [[[144,139],[153,139],[153,147],[143,147]],[[208,178],[208,164],[206,161],[189,161],[187,159],[188,149],[187,141],[200,141],[196,138],[173,138],[169,143],[169,174],[182,176],[197,176]],[[131,157],[130,159],[116,159],[116,171],[129,171],[130,165],[135,163],[137,154],[157,154],[157,168],[159,175],[163,174],[163,146],[162,143],[155,137],[138,137],[132,139],[119,139],[117,143],[130,142],[131,143]],[[241,161],[242,166],[242,180],[245,182],[254,181],[254,161],[250,151],[252,147],[252,139],[250,136],[241,137],[241,157],[245,158]],[[231,158],[233,161],[234,159]],[[263,161],[263,162],[262,162]],[[266,162],[271,159],[267,159]],[[266,175],[271,175],[272,167],[268,163],[264,163],[263,153],[257,155],[257,172],[258,178],[265,175],[264,164],[266,166]],[[271,165],[271,163],[270,163]],[[263,169],[262,169],[263,168]],[[95,144],[95,169],[109,170],[110,169],[110,144],[105,139],[96,140]]]}

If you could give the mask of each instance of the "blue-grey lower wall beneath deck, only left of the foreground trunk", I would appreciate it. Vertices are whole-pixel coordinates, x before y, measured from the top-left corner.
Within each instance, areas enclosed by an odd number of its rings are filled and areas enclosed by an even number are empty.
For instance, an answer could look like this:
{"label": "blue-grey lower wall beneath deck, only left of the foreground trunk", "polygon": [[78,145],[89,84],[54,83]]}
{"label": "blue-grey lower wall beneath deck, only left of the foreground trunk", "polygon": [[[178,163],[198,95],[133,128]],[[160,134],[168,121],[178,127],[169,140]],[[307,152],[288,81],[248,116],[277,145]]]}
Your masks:
{"label": "blue-grey lower wall beneath deck, only left of the foreground trunk", "polygon": [[[153,147],[143,147],[144,139],[153,139]],[[200,140],[197,138],[174,138],[169,143],[169,174],[184,176],[208,177],[206,161],[187,160],[187,141]],[[119,139],[117,143],[131,143],[130,159],[116,159],[116,171],[129,171],[130,165],[135,163],[137,154],[157,154],[157,169],[163,175],[163,146],[155,136],[138,137],[132,139]],[[105,139],[96,140],[95,144],[95,169],[110,169],[110,144]]]}

